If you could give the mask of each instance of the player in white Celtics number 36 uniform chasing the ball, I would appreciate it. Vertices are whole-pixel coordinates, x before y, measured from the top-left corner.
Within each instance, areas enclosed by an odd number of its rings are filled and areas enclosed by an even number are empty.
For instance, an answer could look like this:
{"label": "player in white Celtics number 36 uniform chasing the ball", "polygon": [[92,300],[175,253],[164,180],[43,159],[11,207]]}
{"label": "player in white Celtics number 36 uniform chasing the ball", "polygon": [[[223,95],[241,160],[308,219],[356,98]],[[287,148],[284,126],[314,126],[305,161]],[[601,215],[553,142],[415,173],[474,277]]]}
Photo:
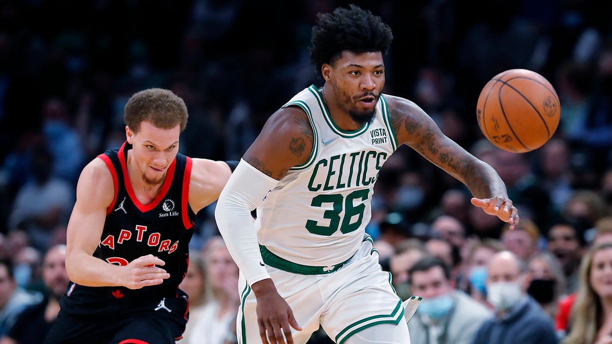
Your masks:
{"label": "player in white Celtics number 36 uniform chasing the ball", "polygon": [[218,200],[218,227],[241,269],[242,344],[304,344],[319,324],[336,343],[410,342],[404,307],[365,234],[378,171],[400,144],[463,182],[474,206],[518,223],[491,166],[416,104],[382,94],[392,38],[356,6],[319,15],[310,53],[323,87],[272,114]]}

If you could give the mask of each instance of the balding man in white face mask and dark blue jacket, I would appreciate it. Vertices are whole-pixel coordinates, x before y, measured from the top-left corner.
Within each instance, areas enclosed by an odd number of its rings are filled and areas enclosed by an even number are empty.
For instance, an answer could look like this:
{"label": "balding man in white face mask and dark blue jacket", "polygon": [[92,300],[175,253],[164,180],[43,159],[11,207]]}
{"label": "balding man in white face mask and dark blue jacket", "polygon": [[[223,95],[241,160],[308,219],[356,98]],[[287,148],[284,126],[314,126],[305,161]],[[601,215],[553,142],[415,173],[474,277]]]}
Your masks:
{"label": "balding man in white face mask and dark blue jacket", "polygon": [[488,264],[487,301],[494,316],[485,321],[472,344],[556,344],[553,321],[527,294],[531,279],[514,253],[496,253]]}

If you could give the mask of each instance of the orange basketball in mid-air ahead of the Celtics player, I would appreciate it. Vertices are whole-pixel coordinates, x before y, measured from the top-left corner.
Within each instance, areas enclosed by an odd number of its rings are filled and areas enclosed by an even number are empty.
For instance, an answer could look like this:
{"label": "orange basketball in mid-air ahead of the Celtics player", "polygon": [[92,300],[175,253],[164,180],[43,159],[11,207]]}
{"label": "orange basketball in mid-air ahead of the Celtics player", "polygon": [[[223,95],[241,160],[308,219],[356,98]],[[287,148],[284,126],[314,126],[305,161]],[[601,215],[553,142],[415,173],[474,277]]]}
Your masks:
{"label": "orange basketball in mid-air ahead of the Celtics player", "polygon": [[480,130],[498,148],[524,153],[545,144],[561,118],[559,96],[536,72],[510,69],[495,75],[480,92]]}

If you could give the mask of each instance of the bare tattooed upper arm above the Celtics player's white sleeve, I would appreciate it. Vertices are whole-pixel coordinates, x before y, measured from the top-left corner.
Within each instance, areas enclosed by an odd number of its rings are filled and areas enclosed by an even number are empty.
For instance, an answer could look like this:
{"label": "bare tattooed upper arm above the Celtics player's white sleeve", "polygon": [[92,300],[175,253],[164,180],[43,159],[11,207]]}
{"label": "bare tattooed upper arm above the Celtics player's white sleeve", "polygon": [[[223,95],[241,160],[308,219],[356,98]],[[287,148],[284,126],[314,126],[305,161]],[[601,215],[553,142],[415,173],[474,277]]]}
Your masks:
{"label": "bare tattooed upper arm above the Celtics player's white sleeve", "polygon": [[289,168],[306,162],[314,140],[304,110],[282,108],[268,119],[242,159],[267,176],[280,180]]}

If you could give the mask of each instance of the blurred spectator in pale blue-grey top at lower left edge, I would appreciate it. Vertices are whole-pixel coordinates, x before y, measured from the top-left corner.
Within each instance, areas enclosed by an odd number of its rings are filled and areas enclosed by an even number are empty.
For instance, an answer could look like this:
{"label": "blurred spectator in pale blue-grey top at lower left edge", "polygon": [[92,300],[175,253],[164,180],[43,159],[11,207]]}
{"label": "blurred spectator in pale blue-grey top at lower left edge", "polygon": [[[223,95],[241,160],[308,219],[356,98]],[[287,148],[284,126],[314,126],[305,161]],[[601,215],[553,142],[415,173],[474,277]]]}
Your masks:
{"label": "blurred spectator in pale blue-grey top at lower left edge", "polygon": [[41,299],[40,294],[30,293],[17,286],[13,277],[13,263],[0,260],[0,338],[7,334],[24,308]]}

